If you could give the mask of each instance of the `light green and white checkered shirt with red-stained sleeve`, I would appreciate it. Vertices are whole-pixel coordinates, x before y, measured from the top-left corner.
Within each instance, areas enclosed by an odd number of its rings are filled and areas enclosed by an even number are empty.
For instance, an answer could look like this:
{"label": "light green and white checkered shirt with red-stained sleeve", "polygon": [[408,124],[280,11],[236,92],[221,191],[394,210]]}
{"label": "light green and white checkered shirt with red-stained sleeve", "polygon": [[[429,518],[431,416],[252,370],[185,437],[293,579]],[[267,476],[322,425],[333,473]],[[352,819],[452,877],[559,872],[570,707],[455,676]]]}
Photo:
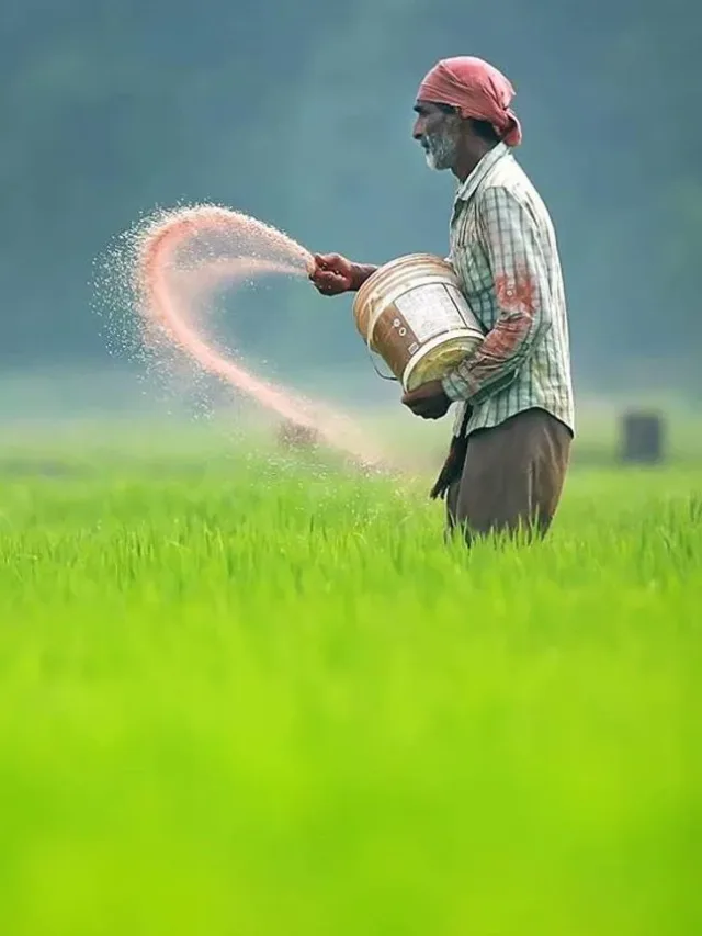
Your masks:
{"label": "light green and white checkered shirt with red-stained sleeve", "polygon": [[451,219],[454,268],[487,334],[443,386],[460,403],[455,432],[497,426],[537,406],[575,431],[568,322],[551,218],[500,143],[461,184]]}

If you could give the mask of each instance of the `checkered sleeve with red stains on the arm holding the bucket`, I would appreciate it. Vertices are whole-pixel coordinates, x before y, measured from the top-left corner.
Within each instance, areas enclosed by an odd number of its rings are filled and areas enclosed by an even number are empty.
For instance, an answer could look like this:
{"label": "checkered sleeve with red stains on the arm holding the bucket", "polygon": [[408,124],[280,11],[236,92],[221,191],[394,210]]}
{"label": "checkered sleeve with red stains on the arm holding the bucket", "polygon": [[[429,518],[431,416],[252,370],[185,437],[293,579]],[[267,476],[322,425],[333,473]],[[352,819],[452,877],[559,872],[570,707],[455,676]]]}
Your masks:
{"label": "checkered sleeve with red stains on the arm holding the bucket", "polygon": [[542,238],[528,208],[509,189],[492,187],[483,195],[478,225],[500,315],[478,351],[443,381],[451,399],[472,404],[512,382],[552,316]]}

